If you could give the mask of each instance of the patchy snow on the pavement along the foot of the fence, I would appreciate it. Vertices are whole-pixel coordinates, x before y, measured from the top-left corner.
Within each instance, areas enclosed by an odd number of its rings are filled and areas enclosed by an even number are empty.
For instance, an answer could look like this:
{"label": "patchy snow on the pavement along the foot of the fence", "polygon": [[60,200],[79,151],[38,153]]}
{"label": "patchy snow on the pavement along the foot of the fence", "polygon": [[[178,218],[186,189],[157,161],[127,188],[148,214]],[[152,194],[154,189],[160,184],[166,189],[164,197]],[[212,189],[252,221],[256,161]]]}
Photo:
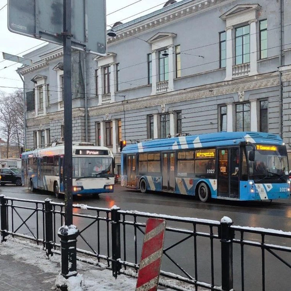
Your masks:
{"label": "patchy snow on the pavement along the foot of the fence", "polygon": [[[42,246],[36,246],[30,242],[8,238],[7,242],[0,243],[0,256],[12,255],[17,261],[23,261],[26,264],[33,265],[45,273],[55,274],[55,278],[50,279],[53,287],[57,278],[63,276],[58,274],[61,271],[61,256],[55,254],[49,259],[46,256]],[[77,261],[78,278],[71,277],[71,282],[67,284],[68,291],[134,291],[136,279],[127,275],[119,275],[116,279],[112,276],[112,271],[94,266],[84,262]],[[29,272],[29,271],[28,271]],[[80,280],[83,280],[83,286],[80,288]],[[79,280],[79,281],[78,281]],[[171,289],[159,287],[158,290],[170,291]],[[191,291],[194,289],[184,289]]]}

